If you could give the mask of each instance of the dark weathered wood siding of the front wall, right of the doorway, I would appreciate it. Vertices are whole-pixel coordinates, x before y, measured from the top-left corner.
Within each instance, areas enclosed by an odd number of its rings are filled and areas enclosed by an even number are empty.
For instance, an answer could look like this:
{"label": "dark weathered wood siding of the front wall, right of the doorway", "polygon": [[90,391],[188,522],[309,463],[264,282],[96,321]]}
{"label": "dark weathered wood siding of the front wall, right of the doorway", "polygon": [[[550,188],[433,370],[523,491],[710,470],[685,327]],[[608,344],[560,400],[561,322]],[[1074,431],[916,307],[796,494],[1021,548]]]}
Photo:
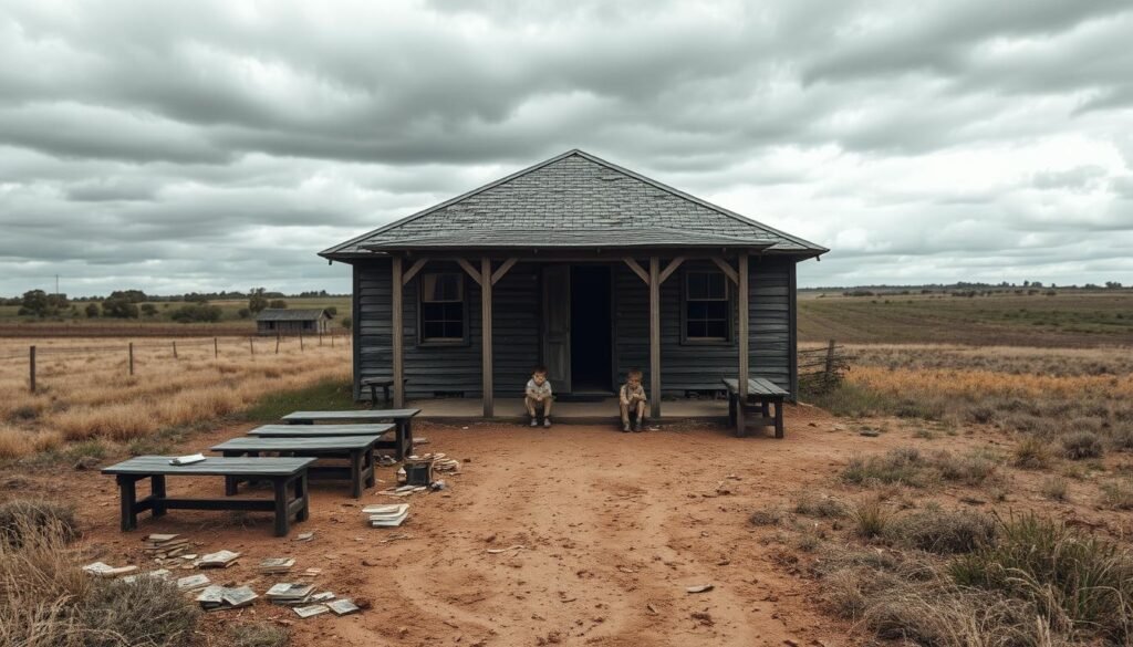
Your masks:
{"label": "dark weathered wood siding of the front wall, right of the doorway", "polygon": [[[667,261],[666,261],[667,262]],[[664,266],[665,263],[662,263]],[[752,256],[749,279],[750,371],[755,377],[767,377],[783,389],[791,389],[792,335],[791,272],[789,259]],[[734,377],[739,371],[735,341],[739,317],[735,316],[735,286],[732,298],[732,340],[724,343],[681,343],[681,307],[684,272],[715,270],[710,262],[690,261],[673,273],[661,287],[661,372],[662,391],[683,395],[685,391],[721,389],[721,378]],[[619,380],[638,367],[649,380],[649,290],[641,279],[624,264],[614,270],[617,293],[615,355]]]}

